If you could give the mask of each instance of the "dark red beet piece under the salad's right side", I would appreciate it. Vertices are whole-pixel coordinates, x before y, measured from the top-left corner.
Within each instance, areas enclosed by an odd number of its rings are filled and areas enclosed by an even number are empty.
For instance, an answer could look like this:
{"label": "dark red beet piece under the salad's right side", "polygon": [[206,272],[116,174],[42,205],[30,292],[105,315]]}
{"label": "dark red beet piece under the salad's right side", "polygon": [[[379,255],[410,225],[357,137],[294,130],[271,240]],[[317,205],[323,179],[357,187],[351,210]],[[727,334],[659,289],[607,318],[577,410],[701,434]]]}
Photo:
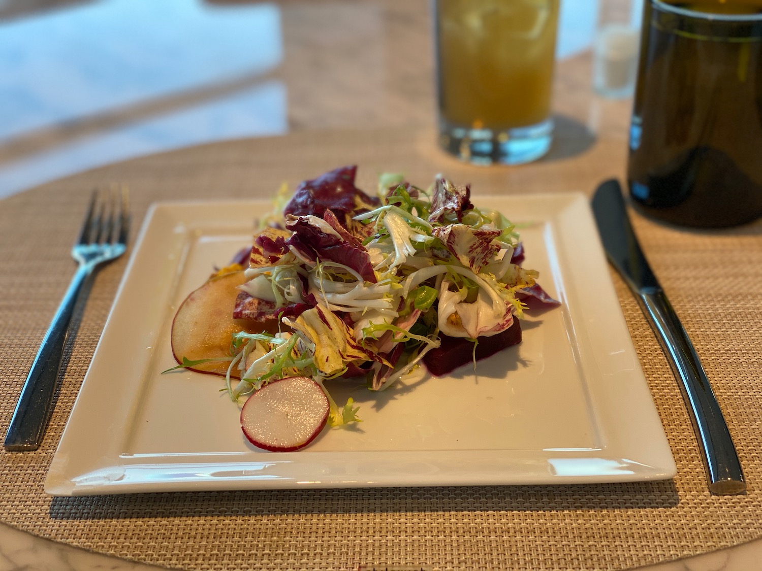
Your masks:
{"label": "dark red beet piece under the salad's right side", "polygon": [[[456,368],[472,362],[474,359],[474,342],[465,337],[450,337],[440,333],[440,346],[431,349],[424,355],[424,365],[432,375],[441,377]],[[476,360],[495,355],[496,352],[511,345],[521,343],[521,326],[514,317],[514,323],[502,333],[492,337],[479,337],[476,345]]]}

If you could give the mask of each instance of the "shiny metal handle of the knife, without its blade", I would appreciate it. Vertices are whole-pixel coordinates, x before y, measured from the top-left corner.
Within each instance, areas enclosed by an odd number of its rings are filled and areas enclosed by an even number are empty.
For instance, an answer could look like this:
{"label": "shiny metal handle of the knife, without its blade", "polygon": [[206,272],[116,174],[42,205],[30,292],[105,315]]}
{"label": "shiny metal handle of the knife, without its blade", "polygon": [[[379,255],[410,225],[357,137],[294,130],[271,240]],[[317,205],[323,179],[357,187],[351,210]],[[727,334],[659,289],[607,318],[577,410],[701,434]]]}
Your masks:
{"label": "shiny metal handle of the knife, without its blade", "polygon": [[639,301],[680,381],[701,445],[709,491],[729,496],[746,491],[741,461],[696,349],[664,292],[640,292]]}

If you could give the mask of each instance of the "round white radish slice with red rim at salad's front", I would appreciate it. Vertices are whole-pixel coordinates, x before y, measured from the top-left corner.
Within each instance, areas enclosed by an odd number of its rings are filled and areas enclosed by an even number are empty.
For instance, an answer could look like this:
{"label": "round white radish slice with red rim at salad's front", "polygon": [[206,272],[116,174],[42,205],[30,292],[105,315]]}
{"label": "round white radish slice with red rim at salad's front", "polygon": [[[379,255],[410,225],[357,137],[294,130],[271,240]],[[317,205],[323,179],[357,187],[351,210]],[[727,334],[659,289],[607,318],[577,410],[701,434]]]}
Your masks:
{"label": "round white radish slice with red rim at salad's front", "polygon": [[311,378],[281,378],[248,397],[241,410],[241,428],[259,448],[297,450],[319,434],[330,409],[322,387]]}

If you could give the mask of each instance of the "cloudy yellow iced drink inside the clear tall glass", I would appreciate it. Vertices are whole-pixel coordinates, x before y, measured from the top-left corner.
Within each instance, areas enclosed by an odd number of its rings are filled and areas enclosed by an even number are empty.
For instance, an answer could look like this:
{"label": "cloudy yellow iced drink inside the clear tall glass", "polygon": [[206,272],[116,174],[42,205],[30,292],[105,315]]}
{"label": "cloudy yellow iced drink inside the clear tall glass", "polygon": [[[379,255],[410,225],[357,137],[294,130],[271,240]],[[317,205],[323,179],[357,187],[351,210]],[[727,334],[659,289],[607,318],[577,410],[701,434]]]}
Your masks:
{"label": "cloudy yellow iced drink inside the clear tall glass", "polygon": [[439,0],[440,117],[512,129],[549,117],[559,0]]}

